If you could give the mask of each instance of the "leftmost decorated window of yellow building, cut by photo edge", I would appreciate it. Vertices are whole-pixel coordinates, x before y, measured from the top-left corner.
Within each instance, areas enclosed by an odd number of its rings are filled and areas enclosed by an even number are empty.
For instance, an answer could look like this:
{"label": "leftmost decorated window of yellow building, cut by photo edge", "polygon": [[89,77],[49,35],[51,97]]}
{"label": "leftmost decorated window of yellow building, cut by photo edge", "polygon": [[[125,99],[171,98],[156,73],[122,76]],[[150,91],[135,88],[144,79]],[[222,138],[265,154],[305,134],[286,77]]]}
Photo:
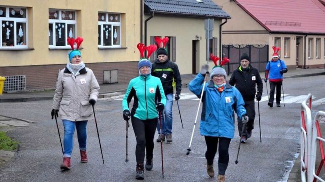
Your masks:
{"label": "leftmost decorated window of yellow building, cut by photo edge", "polygon": [[27,8],[0,7],[0,49],[28,47]]}

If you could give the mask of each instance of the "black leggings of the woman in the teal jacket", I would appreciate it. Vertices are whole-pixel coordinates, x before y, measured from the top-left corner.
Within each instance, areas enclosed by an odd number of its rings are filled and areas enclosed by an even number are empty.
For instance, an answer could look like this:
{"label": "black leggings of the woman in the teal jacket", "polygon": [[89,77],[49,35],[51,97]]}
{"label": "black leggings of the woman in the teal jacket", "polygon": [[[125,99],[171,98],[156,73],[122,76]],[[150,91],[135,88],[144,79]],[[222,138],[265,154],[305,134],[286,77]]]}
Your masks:
{"label": "black leggings of the woman in the teal jacket", "polygon": [[158,118],[141,120],[131,117],[131,122],[134,134],[136,135],[136,163],[143,164],[145,149],[147,157],[152,157],[153,137],[155,136]]}

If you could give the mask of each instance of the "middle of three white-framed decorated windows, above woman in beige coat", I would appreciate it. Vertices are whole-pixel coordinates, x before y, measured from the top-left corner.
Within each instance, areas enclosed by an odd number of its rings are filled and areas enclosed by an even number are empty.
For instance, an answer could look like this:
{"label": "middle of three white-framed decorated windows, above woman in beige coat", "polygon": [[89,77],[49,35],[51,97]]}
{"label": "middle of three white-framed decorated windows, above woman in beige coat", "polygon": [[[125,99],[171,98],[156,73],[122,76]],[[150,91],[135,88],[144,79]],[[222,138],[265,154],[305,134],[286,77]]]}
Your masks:
{"label": "middle of three white-framed decorated windows, above woman in beige coat", "polygon": [[48,45],[50,48],[70,47],[67,38],[76,38],[76,12],[49,9]]}

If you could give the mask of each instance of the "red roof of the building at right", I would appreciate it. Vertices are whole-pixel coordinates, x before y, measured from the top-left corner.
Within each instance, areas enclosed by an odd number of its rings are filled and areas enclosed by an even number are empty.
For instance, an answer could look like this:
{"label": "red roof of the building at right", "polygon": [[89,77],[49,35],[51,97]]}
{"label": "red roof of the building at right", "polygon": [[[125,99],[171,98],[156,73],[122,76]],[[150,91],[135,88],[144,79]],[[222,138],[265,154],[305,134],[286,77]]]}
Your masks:
{"label": "red roof of the building at right", "polygon": [[269,31],[325,33],[324,0],[235,0]]}

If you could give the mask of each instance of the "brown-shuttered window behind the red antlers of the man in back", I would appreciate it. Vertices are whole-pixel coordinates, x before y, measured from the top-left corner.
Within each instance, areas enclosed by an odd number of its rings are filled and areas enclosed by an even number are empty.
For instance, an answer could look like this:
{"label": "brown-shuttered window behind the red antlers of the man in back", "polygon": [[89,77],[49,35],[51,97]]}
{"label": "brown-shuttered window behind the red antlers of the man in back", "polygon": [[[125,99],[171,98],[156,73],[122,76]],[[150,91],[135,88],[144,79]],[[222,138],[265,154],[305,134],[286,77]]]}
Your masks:
{"label": "brown-shuttered window behind the red antlers of the man in back", "polygon": [[[160,37],[160,36],[150,36],[150,44],[156,44],[157,49],[159,49],[158,44],[155,42],[155,37]],[[167,50],[168,53],[168,59],[175,62],[176,61],[176,37],[168,37],[168,42],[165,46],[165,49]],[[149,45],[147,45],[149,46]],[[150,61],[154,62],[155,59],[157,59],[157,51],[151,54],[150,56]]]}

